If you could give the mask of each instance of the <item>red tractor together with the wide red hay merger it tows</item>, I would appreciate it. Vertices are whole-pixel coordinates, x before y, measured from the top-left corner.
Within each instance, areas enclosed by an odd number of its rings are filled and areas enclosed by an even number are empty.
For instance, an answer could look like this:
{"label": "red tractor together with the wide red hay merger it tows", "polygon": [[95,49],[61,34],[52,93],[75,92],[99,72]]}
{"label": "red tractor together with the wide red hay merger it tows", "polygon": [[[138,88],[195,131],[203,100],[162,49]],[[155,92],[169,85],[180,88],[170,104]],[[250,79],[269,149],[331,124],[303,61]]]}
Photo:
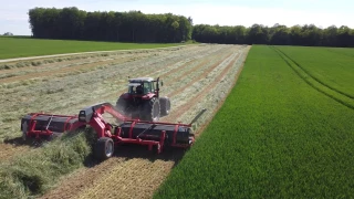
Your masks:
{"label": "red tractor together with the wide red hay merger it tows", "polygon": [[[206,109],[190,124],[158,122],[160,115],[169,114],[169,100],[159,97],[159,78],[131,78],[128,92],[118,97],[116,106],[100,103],[81,109],[79,115],[30,113],[22,117],[21,130],[24,138],[42,138],[91,126],[97,136],[94,155],[101,160],[112,157],[115,146],[121,144],[146,145],[157,154],[164,147],[190,147],[195,143],[191,124]],[[118,125],[105,121],[105,113],[118,121]]]}

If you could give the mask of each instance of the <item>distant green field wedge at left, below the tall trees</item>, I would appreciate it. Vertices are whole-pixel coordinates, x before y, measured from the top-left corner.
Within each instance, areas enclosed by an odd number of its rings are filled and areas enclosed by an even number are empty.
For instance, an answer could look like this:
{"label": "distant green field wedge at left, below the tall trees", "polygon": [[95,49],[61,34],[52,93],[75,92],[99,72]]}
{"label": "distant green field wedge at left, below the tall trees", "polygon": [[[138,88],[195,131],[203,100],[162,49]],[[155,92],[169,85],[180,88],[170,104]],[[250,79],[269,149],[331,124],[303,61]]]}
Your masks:
{"label": "distant green field wedge at left, below the tall trees", "polygon": [[0,36],[0,60],[23,56],[77,53],[90,51],[113,51],[153,49],[181,45],[183,43],[117,43],[70,40],[39,40],[30,38]]}

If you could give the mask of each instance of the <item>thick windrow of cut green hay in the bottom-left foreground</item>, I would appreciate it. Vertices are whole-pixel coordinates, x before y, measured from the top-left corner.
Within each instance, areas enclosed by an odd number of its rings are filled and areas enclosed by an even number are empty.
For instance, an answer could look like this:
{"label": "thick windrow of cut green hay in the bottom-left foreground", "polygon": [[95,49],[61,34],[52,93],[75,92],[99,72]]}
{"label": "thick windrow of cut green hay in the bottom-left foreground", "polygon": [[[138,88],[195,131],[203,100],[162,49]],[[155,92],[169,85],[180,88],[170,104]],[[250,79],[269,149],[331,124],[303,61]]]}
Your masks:
{"label": "thick windrow of cut green hay in the bottom-left foreground", "polygon": [[91,130],[65,134],[43,147],[0,164],[0,198],[32,198],[52,188],[59,178],[81,167],[91,155]]}

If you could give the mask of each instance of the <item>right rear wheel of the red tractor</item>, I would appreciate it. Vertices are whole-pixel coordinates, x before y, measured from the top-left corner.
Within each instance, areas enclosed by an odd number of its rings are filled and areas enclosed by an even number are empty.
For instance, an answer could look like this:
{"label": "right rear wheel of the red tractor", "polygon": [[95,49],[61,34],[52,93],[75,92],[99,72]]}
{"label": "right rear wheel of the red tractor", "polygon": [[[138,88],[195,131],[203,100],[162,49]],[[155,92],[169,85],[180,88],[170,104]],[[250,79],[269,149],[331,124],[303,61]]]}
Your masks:
{"label": "right rear wheel of the red tractor", "polygon": [[145,102],[143,109],[140,111],[140,118],[149,122],[158,122],[160,117],[160,105],[156,97],[153,97],[148,102]]}

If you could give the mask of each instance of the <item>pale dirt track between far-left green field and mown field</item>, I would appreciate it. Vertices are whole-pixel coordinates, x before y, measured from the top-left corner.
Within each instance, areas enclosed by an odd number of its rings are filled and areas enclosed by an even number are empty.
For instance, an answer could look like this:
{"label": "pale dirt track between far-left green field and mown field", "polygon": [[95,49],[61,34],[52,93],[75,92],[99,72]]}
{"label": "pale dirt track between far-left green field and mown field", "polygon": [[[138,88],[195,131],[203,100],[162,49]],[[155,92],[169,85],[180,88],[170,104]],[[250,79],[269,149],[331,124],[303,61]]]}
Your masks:
{"label": "pale dirt track between far-left green field and mown field", "polygon": [[27,57],[15,57],[15,59],[0,60],[0,63],[17,62],[17,61],[27,61],[27,60],[37,60],[37,59],[46,59],[46,57],[60,57],[60,56],[70,56],[70,55],[81,55],[81,54],[113,53],[113,52],[132,52],[132,51],[154,51],[154,50],[165,50],[165,49],[185,48],[185,46],[192,46],[192,45],[201,45],[201,44],[188,44],[188,45],[176,45],[176,46],[168,46],[168,48],[152,48],[152,49],[88,51],[88,52],[79,52],[79,53],[63,53],[63,54],[51,54],[51,55],[40,55],[40,56],[27,56]]}

